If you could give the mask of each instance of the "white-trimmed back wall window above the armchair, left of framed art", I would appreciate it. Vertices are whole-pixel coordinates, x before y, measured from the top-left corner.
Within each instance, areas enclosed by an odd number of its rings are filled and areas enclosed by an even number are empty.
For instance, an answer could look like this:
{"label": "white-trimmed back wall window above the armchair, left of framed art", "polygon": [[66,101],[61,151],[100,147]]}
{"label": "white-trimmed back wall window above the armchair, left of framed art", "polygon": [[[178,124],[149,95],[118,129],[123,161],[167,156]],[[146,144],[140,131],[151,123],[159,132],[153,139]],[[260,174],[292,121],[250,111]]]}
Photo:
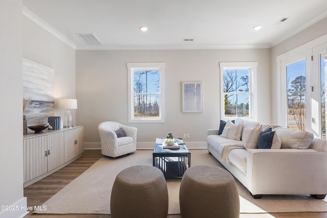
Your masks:
{"label": "white-trimmed back wall window above the armchair, left of framed art", "polygon": [[127,63],[128,122],[165,122],[165,63]]}

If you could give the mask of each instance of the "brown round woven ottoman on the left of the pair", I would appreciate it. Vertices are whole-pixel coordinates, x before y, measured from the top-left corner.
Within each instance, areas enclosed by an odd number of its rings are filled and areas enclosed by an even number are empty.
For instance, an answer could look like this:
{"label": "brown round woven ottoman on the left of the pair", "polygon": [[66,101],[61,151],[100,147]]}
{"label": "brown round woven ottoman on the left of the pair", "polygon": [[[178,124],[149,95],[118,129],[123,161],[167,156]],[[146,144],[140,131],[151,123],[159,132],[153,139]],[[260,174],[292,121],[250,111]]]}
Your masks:
{"label": "brown round woven ottoman on the left of the pair", "polygon": [[110,210],[112,218],[167,218],[168,189],[164,174],[154,166],[124,169],[113,183]]}

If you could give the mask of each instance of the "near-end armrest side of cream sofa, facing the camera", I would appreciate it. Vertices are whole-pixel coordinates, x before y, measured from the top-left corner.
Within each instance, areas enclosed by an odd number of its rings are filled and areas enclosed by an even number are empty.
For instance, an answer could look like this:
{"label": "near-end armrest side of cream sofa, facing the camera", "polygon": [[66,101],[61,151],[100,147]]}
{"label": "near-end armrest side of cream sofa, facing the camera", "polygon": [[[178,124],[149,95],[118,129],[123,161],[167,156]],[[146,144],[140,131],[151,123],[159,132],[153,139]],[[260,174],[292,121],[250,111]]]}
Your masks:
{"label": "near-end armrest side of cream sofa, facing the camera", "polygon": [[251,149],[247,188],[252,195],[327,193],[327,152],[313,149]]}

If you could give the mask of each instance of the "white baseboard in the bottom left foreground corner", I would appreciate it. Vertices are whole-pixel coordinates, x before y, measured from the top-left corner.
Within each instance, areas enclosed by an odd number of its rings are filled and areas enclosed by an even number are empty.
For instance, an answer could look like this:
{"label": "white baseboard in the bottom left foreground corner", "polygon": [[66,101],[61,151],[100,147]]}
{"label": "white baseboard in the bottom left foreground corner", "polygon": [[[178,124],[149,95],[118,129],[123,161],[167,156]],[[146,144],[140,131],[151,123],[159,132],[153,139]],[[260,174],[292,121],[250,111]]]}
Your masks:
{"label": "white baseboard in the bottom left foreground corner", "polygon": [[29,213],[26,197],[20,199],[13,205],[5,205],[5,207],[6,206],[8,206],[8,208],[0,212],[0,218],[21,218]]}

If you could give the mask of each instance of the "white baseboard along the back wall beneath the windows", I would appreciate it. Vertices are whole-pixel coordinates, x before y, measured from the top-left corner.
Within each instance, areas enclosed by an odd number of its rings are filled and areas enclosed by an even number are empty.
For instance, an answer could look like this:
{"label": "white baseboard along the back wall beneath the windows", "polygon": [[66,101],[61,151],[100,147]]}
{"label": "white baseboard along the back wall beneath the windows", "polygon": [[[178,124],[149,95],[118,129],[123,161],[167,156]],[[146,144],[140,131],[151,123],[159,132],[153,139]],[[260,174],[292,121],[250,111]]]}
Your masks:
{"label": "white baseboard along the back wall beneath the windows", "polygon": [[[136,149],[142,150],[142,149],[153,149],[155,142],[137,142],[136,143]],[[185,142],[186,147],[189,149],[206,149],[207,148],[207,142],[206,141],[188,141]],[[84,149],[101,149],[101,143],[100,142],[84,142]]]}

